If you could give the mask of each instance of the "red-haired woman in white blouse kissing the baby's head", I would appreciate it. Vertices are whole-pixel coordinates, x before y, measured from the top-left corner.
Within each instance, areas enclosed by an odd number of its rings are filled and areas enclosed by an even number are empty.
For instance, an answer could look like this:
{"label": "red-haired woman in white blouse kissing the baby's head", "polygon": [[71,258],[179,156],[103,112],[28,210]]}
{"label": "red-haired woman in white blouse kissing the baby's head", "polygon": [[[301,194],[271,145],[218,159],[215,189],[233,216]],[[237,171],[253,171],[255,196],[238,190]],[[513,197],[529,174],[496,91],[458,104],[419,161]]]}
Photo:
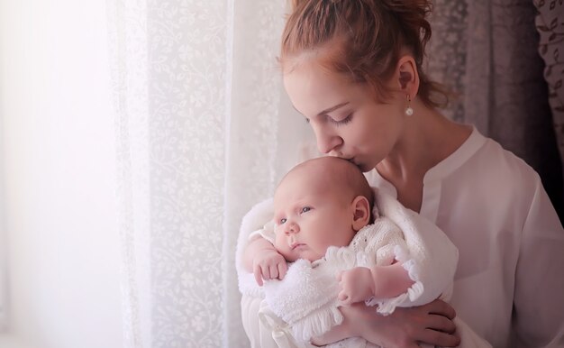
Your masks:
{"label": "red-haired woman in white blouse kissing the baby's head", "polygon": [[430,6],[295,1],[283,33],[284,86],[319,151],[369,172],[459,248],[450,305],[342,307],[344,330],[386,347],[456,346],[456,311],[495,347],[564,346],[564,230],[533,169],[437,110],[444,94],[422,69]]}

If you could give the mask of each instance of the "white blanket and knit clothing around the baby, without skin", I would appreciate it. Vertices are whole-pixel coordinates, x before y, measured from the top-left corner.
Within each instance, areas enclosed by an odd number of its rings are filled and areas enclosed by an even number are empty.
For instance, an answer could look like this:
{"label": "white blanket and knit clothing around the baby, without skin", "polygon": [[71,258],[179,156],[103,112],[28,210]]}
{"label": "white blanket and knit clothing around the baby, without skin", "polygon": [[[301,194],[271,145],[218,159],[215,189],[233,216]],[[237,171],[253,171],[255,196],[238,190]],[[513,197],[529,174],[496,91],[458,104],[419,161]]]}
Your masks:
{"label": "white blanket and knit clothing around the baby, without skin", "polygon": [[[335,294],[338,293],[338,284],[334,277],[335,272],[364,265],[361,264],[363,262],[368,261],[369,263],[370,260],[375,259],[374,254],[370,257],[371,252],[376,250],[379,250],[376,258],[378,264],[386,264],[393,259],[401,261],[410,278],[414,280],[414,285],[405,294],[386,301],[371,302],[371,305],[378,304],[380,313],[391,313],[397,306],[421,306],[438,298],[441,294],[443,298],[445,294],[450,294],[458,261],[456,247],[438,227],[406,209],[395,198],[378,191],[375,197],[375,210],[383,218],[378,218],[376,224],[362,230],[362,233],[359,232],[352,243],[364,241],[365,234],[368,234],[367,244],[363,246],[368,247],[370,244],[370,248],[364,250],[359,245],[352,248],[330,248],[328,253],[332,254],[332,257],[326,258],[329,261],[315,261],[313,265],[309,261],[296,261],[289,268],[287,279],[268,281],[264,288],[259,288],[253,275],[242,269],[241,255],[244,247],[250,239],[254,238],[257,231],[265,236],[273,234],[270,231],[272,224],[268,224],[273,215],[272,200],[268,199],[259,203],[245,215],[237,245],[236,266],[239,288],[243,295],[260,298],[265,298],[266,289],[269,293],[267,302],[270,311],[268,313],[274,313],[287,324],[277,325],[277,330],[292,330],[293,336],[298,341],[306,342],[312,335],[323,334],[332,325],[340,324],[342,316],[337,309]],[[387,231],[393,229],[396,232],[383,238],[383,243],[376,242],[378,238],[386,236]],[[433,254],[429,253],[430,250],[433,251]],[[368,253],[359,253],[361,251]],[[364,255],[361,258],[364,261],[359,261],[358,255]],[[337,260],[341,265],[334,267],[331,260]],[[324,271],[316,271],[317,269]],[[316,286],[319,283],[324,284],[324,287]],[[304,287],[308,290],[301,290]],[[448,297],[447,295],[445,299]],[[265,316],[261,317],[264,320],[268,319]],[[309,320],[312,317],[315,319]]]}

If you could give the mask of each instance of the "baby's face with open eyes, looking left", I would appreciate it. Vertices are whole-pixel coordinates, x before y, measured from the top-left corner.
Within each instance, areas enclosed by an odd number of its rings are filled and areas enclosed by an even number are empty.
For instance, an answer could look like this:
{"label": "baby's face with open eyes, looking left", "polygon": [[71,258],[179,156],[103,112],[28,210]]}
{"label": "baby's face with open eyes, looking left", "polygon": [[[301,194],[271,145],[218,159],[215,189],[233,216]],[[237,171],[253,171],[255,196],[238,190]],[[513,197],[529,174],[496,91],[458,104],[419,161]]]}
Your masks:
{"label": "baby's face with open eyes, looking left", "polygon": [[[296,175],[295,175],[296,174]],[[287,261],[323,258],[331,245],[349,245],[354,209],[341,188],[326,188],[305,173],[291,173],[274,196],[274,246]]]}

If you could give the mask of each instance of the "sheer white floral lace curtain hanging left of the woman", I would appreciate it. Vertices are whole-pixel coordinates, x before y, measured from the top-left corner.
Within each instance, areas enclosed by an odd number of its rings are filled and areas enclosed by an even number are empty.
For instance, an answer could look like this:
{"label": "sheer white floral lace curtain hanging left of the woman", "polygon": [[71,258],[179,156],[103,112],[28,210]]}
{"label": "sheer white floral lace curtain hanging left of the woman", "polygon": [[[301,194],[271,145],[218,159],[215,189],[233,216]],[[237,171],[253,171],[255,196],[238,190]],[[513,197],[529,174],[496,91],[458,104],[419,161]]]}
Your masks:
{"label": "sheer white floral lace curtain hanging left of the woman", "polygon": [[284,3],[107,2],[130,347],[248,344],[239,224],[305,137],[277,69]]}

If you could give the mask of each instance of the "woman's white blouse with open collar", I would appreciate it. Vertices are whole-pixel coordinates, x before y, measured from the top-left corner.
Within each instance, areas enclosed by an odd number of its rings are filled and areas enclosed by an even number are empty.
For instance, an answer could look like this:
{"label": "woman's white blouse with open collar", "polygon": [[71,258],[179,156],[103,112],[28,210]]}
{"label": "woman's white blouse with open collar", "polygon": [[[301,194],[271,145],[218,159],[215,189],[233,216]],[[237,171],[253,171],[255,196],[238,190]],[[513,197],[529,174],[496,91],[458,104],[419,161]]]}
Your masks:
{"label": "woman's white blouse with open collar", "polygon": [[459,248],[457,316],[494,347],[564,347],[564,229],[531,167],[474,129],[426,173],[420,213]]}

